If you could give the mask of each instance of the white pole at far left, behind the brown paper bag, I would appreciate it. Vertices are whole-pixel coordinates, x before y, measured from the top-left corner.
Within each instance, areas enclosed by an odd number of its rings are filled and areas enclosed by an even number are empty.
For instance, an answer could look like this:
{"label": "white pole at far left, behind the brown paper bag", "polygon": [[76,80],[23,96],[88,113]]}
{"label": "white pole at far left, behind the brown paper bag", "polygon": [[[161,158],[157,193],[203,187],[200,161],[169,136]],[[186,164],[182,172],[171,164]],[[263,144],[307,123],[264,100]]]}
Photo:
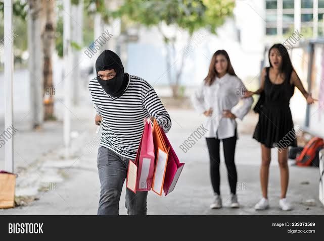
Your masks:
{"label": "white pole at far left, behind the brown paper bag", "polygon": [[[12,26],[13,4],[12,0],[4,2],[4,20],[5,20],[5,131],[11,130],[13,124],[13,71],[14,71],[14,35]],[[5,145],[5,169],[14,172],[14,137],[11,133]]]}

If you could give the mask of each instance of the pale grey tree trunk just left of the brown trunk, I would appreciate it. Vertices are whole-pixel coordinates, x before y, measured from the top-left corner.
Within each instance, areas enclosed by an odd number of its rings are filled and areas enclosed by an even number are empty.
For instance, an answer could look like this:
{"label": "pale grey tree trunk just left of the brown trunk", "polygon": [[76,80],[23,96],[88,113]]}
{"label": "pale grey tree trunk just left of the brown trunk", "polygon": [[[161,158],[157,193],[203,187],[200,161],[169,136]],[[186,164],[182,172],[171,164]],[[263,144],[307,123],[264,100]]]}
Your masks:
{"label": "pale grey tree trunk just left of the brown trunk", "polygon": [[43,123],[43,51],[41,33],[44,29],[44,0],[28,0],[28,51],[30,112],[32,128],[38,129]]}

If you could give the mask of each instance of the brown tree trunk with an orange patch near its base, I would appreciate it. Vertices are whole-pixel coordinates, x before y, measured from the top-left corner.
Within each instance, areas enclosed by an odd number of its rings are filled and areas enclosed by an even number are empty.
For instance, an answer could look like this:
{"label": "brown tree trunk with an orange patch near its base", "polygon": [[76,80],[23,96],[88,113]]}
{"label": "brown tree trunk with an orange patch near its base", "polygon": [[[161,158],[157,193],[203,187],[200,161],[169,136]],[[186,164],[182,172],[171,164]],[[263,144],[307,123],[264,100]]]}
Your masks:
{"label": "brown tree trunk with an orange patch near its base", "polygon": [[55,40],[55,1],[45,1],[45,28],[42,34],[43,53],[44,53],[44,121],[55,119],[54,116],[54,98],[55,88],[53,85],[53,64],[52,54]]}

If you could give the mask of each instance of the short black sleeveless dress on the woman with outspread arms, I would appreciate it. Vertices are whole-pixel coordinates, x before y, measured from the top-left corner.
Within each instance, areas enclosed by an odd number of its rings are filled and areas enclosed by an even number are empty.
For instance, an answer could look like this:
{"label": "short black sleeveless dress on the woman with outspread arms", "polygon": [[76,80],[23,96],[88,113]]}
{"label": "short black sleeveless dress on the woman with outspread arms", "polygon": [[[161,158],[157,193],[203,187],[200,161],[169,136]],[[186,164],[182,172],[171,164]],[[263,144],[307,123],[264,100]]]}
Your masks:
{"label": "short black sleeveless dress on the woman with outspread arms", "polygon": [[268,148],[297,146],[293,119],[289,107],[295,86],[291,85],[290,75],[282,84],[269,80],[269,67],[266,68],[264,82],[264,102],[259,105],[259,122],[253,138]]}

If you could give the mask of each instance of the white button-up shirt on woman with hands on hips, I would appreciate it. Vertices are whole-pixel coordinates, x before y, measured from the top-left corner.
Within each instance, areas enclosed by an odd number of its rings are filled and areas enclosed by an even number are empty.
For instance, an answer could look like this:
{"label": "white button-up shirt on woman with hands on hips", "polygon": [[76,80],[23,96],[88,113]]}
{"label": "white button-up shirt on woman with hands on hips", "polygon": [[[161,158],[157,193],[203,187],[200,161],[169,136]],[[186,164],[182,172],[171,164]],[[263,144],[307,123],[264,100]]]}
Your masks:
{"label": "white button-up shirt on woman with hands on hips", "polygon": [[[199,113],[204,113],[209,108],[213,112],[206,117],[205,128],[208,130],[205,137],[225,139],[235,136],[237,123],[235,119],[222,116],[223,110],[230,110],[241,120],[249,112],[253,103],[252,97],[244,98],[246,88],[243,82],[236,76],[225,74],[223,77],[216,77],[211,86],[203,82],[195,94],[192,102]],[[239,105],[242,99],[243,104]]]}

